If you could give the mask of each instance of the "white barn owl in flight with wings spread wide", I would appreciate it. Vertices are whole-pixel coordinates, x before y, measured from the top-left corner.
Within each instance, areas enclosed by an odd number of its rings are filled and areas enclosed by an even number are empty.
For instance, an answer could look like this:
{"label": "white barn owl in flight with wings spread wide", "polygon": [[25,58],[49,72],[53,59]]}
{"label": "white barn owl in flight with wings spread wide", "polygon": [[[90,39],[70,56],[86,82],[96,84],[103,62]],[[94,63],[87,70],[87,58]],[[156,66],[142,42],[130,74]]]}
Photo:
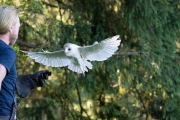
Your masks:
{"label": "white barn owl in flight with wings spread wide", "polygon": [[89,61],[104,61],[118,50],[121,42],[118,38],[119,35],[116,35],[89,46],[66,43],[63,50],[54,52],[22,52],[37,63],[51,67],[68,66],[68,69],[85,76],[85,72],[92,69],[92,64]]}

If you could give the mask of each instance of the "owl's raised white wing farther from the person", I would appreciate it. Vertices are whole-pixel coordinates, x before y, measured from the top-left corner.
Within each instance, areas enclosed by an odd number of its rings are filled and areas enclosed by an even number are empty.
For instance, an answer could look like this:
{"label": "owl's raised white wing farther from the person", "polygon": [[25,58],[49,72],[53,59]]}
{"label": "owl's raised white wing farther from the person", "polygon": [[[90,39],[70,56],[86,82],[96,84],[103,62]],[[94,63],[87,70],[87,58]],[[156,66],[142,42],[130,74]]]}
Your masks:
{"label": "owl's raised white wing farther from the person", "polygon": [[111,57],[120,45],[119,35],[107,38],[100,43],[95,42],[93,45],[80,47],[81,56],[86,60],[103,61]]}

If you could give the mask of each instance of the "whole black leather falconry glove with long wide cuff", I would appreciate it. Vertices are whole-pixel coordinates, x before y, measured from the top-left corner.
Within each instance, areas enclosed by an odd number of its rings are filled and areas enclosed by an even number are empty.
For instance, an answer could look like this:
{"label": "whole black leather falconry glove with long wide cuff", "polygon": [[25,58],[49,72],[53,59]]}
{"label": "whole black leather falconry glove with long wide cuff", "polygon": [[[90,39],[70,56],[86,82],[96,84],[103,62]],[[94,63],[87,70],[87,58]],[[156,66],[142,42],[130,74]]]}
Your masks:
{"label": "whole black leather falconry glove with long wide cuff", "polygon": [[50,71],[41,70],[34,74],[19,76],[15,83],[15,88],[19,97],[27,97],[31,93],[32,89],[42,87],[50,75]]}

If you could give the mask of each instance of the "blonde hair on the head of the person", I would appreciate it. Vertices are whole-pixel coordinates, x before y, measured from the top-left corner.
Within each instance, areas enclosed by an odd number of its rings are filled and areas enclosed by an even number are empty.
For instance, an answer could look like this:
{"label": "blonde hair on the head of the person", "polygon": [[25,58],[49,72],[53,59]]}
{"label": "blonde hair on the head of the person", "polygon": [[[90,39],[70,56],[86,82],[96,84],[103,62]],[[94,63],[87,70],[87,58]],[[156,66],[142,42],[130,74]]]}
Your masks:
{"label": "blonde hair on the head of the person", "polygon": [[18,9],[8,5],[0,6],[0,34],[7,33],[16,22],[18,16]]}

